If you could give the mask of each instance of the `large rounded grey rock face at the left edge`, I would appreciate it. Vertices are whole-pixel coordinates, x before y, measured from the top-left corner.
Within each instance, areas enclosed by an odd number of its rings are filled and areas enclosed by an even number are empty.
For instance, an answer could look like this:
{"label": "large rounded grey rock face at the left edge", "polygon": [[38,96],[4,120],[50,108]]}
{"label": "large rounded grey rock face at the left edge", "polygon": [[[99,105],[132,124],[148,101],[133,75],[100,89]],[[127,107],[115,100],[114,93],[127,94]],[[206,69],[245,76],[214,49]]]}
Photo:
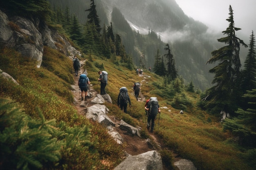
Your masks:
{"label": "large rounded grey rock face at the left edge", "polygon": [[41,33],[31,20],[22,17],[9,19],[0,11],[0,42],[16,49],[24,56],[36,59],[38,68],[43,59],[43,40]]}

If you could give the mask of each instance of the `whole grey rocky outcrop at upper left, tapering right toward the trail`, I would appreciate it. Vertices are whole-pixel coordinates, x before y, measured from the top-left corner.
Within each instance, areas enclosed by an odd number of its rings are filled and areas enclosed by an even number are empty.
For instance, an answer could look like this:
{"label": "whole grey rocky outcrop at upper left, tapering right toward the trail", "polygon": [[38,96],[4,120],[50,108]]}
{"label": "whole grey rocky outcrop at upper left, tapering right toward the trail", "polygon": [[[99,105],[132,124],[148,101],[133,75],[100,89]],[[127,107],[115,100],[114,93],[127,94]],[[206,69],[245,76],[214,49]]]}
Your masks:
{"label": "whole grey rocky outcrop at upper left, tapering right toward the trail", "polygon": [[37,67],[43,60],[43,47],[58,49],[65,55],[80,55],[70,42],[55,29],[37,18],[27,19],[19,16],[9,18],[0,10],[0,45],[14,48],[23,56],[36,60]]}

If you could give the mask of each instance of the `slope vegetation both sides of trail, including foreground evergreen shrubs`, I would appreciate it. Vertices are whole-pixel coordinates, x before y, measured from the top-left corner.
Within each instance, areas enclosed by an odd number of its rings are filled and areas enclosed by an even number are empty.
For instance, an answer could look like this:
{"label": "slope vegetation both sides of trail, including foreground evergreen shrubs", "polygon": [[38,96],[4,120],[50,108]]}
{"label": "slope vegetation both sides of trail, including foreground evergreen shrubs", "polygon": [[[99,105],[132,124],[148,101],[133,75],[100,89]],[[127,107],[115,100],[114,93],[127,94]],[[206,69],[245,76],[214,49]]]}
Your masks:
{"label": "slope vegetation both sides of trail, including foreground evergreen shrubs", "polygon": [[[0,77],[1,148],[6,148],[1,150],[1,157],[6,158],[1,159],[1,167],[113,169],[123,157],[122,146],[117,146],[99,124],[77,114],[70,90],[74,82],[72,61],[53,49],[45,47],[44,51],[42,67],[36,68],[30,59],[11,49],[1,49],[0,67],[19,83],[16,85]],[[107,93],[113,100],[113,104],[106,105],[110,109],[109,114],[134,126],[141,126],[141,133],[147,137],[144,102],[137,102],[132,96],[132,84],[141,82],[143,77],[122,64],[115,65],[99,56],[92,56],[91,62],[87,60],[85,68],[98,91],[97,71],[108,71]],[[142,94],[146,98],[157,97],[160,107],[168,108],[162,109],[159,128],[156,126],[156,133],[169,148],[160,151],[167,166],[173,167],[175,152],[191,159],[201,170],[250,169],[246,161],[239,157],[239,147],[229,141],[229,133],[222,132],[219,120],[196,107],[198,94],[186,91],[187,86],[181,79],[175,79],[172,84],[165,86],[161,77],[149,72],[144,74],[150,77],[142,82]],[[122,86],[126,86],[131,94],[132,108],[128,114],[122,113],[117,106],[117,95]],[[166,93],[172,97],[166,98]],[[183,115],[179,114],[180,108],[184,109]],[[19,119],[22,122],[17,121]],[[19,127],[26,129],[26,133],[19,132]],[[45,150],[48,153],[56,153],[55,158],[45,155],[38,145],[48,148]],[[108,163],[103,164],[103,160]]]}

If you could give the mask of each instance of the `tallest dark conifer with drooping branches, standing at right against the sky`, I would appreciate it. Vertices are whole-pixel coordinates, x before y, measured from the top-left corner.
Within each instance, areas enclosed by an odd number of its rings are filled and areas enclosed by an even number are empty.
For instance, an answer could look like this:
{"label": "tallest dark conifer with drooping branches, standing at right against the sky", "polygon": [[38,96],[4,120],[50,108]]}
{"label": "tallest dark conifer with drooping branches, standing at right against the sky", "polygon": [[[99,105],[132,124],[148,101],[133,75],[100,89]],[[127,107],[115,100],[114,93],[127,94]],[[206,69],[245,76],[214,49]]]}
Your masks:
{"label": "tallest dark conifer with drooping branches, standing at right against the sky", "polygon": [[207,64],[219,62],[214,68],[210,69],[210,73],[214,73],[213,87],[209,89],[210,101],[207,108],[213,113],[220,113],[221,110],[226,113],[233,113],[236,110],[236,99],[238,77],[240,76],[240,44],[247,46],[243,40],[236,37],[236,31],[240,28],[234,26],[233,10],[229,6],[229,27],[222,31],[227,37],[218,39],[218,42],[224,42],[224,46],[218,50],[213,51],[212,57],[207,61]]}

